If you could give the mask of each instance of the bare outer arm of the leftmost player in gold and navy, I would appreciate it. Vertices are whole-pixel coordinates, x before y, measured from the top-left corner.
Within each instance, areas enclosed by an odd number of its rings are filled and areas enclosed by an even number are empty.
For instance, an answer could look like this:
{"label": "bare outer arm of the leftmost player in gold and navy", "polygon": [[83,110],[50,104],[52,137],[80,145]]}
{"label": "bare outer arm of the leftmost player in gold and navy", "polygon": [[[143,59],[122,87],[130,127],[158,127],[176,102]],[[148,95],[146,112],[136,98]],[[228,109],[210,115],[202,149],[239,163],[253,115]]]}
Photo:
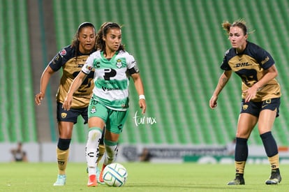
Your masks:
{"label": "bare outer arm of the leftmost player in gold and navy", "polygon": [[35,96],[36,105],[40,105],[41,100],[43,100],[43,98],[45,97],[45,91],[47,88],[47,84],[48,84],[50,77],[52,76],[53,73],[54,73],[54,71],[52,70],[52,68],[49,65],[43,71],[41,78],[40,78],[40,92],[38,94],[36,94],[36,96]]}

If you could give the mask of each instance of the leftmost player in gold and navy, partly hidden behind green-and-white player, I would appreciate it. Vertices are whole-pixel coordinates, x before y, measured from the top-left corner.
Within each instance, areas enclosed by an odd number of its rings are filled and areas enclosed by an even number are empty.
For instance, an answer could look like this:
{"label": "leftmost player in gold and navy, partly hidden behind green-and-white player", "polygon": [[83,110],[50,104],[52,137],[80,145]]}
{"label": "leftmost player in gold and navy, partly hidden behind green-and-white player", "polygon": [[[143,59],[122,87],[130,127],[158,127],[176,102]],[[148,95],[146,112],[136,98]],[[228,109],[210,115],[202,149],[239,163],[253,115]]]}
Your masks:
{"label": "leftmost player in gold and navy, partly hidden behind green-and-white player", "polygon": [[[69,145],[73,133],[73,125],[77,123],[77,117],[81,115],[84,124],[87,124],[87,108],[94,88],[94,71],[91,71],[79,89],[73,94],[71,110],[62,108],[64,99],[71,82],[80,73],[82,66],[89,54],[96,51],[96,30],[90,22],[80,24],[71,45],[64,47],[47,65],[40,79],[40,92],[35,96],[35,102],[40,105],[45,97],[45,90],[50,77],[54,72],[62,68],[63,74],[57,91],[57,121],[59,129],[59,140],[57,143],[58,175],[54,186],[66,184],[66,165],[68,163]],[[103,138],[99,146],[98,161],[105,151]]]}

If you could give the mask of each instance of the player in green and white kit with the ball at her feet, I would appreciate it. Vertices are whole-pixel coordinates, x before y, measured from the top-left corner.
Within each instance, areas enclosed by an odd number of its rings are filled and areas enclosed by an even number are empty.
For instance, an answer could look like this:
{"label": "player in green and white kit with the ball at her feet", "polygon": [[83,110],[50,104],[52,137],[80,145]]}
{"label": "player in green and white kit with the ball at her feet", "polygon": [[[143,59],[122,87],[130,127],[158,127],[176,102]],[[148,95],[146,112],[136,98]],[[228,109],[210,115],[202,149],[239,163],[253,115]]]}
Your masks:
{"label": "player in green and white kit with the ball at her feet", "polygon": [[[121,44],[121,27],[117,23],[105,22],[96,37],[98,51],[87,59],[68,91],[63,108],[71,109],[73,93],[94,68],[93,96],[89,103],[89,134],[86,146],[89,181],[87,186],[96,186],[96,158],[98,142],[105,127],[105,160],[103,169],[117,156],[117,142],[128,115],[128,82],[131,77],[139,95],[142,113],[146,110],[144,87],[134,57]],[[97,150],[96,150],[97,149]],[[103,172],[102,169],[102,172]],[[100,181],[103,182],[102,172]]]}

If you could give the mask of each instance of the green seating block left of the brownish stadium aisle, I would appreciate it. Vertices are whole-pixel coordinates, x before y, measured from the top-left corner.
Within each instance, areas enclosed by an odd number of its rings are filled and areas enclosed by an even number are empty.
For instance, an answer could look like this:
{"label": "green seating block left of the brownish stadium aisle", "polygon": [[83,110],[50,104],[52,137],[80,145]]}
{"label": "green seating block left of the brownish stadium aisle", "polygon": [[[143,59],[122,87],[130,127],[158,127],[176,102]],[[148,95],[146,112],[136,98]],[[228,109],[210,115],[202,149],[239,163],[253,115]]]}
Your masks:
{"label": "green seating block left of the brownish stadium aisle", "polygon": [[[1,3],[0,142],[36,142],[26,1]],[[4,47],[5,46],[5,47]]]}

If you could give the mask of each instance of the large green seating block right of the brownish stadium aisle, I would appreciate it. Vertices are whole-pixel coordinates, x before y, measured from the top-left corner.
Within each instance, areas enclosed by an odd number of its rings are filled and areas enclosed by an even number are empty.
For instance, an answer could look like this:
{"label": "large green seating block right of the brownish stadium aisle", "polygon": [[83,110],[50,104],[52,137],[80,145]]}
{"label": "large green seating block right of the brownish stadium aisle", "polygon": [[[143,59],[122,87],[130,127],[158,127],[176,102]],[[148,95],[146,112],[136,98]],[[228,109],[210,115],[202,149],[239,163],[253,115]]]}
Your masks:
{"label": "large green seating block right of the brownish stadium aisle", "polygon": [[[239,77],[232,75],[216,110],[209,109],[208,104],[223,72],[220,69],[223,54],[230,47],[221,22],[237,20],[242,13],[249,31],[255,30],[249,40],[272,53],[279,68],[283,105],[273,133],[280,145],[289,144],[286,139],[289,111],[285,104],[289,102],[286,97],[289,94],[286,31],[289,29],[285,24],[288,1],[69,2],[53,1],[59,49],[71,42],[81,22],[93,22],[98,28],[105,21],[113,21],[124,24],[126,50],[138,61],[147,98],[144,116],[155,117],[157,123],[135,126],[138,95],[131,86],[131,109],[121,143],[225,145],[232,140],[239,115]],[[274,30],[276,26],[281,30]],[[84,137],[78,131],[77,134]],[[262,145],[258,130],[254,130],[250,142]]]}

